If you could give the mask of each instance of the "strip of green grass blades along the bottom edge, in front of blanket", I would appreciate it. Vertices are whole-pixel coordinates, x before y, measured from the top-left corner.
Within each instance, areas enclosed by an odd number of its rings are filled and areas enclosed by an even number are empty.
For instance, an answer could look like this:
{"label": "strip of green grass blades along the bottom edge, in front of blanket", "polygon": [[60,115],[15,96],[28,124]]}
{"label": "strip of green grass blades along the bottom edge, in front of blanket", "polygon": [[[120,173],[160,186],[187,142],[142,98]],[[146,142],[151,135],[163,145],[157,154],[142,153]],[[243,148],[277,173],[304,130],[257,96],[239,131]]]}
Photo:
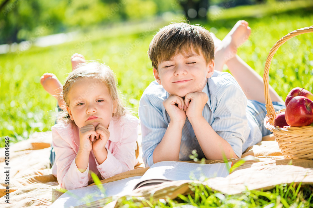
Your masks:
{"label": "strip of green grass blades along the bottom edge, in front of blanket", "polygon": [[[242,194],[227,195],[212,191],[208,186],[191,184],[192,194],[180,195],[176,200],[159,200],[157,207],[176,207],[189,204],[195,207],[312,207],[312,186],[296,184],[277,185],[269,191],[245,191]],[[124,201],[125,202],[125,201]],[[124,207],[127,206],[127,202]],[[123,207],[123,206],[121,206]]]}

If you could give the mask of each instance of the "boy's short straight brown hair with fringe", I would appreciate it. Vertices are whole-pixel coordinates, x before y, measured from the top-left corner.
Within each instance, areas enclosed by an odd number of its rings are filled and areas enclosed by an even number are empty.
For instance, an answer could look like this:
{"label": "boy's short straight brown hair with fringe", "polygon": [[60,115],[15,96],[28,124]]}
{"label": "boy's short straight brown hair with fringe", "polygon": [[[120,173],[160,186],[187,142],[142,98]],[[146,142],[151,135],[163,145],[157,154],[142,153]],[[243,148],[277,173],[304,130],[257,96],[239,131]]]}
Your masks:
{"label": "boy's short straight brown hair with fringe", "polygon": [[185,22],[172,23],[161,28],[149,46],[149,58],[157,70],[158,64],[170,60],[177,50],[186,52],[193,49],[202,52],[207,64],[214,59],[214,42],[210,32],[198,25]]}

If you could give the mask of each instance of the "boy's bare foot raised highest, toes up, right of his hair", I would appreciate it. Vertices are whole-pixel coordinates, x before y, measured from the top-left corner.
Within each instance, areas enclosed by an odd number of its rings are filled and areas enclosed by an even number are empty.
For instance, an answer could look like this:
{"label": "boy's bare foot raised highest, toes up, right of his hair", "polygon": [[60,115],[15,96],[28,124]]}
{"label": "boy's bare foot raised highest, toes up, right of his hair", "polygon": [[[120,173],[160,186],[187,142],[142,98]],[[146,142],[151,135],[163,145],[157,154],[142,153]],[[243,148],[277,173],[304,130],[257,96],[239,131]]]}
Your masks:
{"label": "boy's bare foot raised highest, toes up, right of his hair", "polygon": [[237,54],[237,49],[241,44],[248,40],[251,28],[248,22],[238,21],[231,31],[225,36],[222,43],[215,52],[215,69],[222,71],[223,65]]}

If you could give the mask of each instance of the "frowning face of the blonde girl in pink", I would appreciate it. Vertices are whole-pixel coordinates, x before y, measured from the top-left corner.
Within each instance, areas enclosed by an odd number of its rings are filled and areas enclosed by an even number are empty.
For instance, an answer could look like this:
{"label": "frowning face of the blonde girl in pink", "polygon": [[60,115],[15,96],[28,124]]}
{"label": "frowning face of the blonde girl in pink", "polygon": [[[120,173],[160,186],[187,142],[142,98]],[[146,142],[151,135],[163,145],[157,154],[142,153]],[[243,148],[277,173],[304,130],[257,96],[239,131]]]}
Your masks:
{"label": "frowning face of the blonde girl in pink", "polygon": [[106,128],[116,113],[116,102],[109,89],[99,80],[86,78],[76,82],[69,91],[69,106],[66,106],[71,120],[78,128],[102,123]]}

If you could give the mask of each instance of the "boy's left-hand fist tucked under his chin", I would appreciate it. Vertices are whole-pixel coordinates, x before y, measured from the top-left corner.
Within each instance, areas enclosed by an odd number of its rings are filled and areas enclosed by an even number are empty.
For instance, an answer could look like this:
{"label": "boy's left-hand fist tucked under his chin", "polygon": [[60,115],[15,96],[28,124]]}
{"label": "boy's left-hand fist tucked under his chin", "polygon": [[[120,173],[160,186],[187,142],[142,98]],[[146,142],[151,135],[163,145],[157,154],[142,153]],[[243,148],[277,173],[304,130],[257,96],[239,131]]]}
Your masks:
{"label": "boy's left-hand fist tucked under his chin", "polygon": [[165,110],[173,122],[185,123],[186,112],[184,111],[185,102],[182,97],[170,95],[163,101]]}

